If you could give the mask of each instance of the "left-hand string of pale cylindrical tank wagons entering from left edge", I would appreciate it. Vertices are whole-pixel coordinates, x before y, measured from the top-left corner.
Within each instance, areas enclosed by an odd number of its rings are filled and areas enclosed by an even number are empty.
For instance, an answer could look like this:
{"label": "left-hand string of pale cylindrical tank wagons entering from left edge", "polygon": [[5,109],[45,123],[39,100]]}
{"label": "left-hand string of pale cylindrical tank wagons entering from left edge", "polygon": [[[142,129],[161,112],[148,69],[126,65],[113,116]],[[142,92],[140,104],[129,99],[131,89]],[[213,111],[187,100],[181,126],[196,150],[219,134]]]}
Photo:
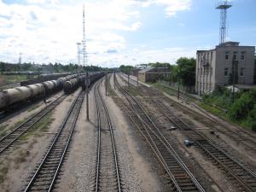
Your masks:
{"label": "left-hand string of pale cylindrical tank wagons entering from left edge", "polygon": [[0,110],[9,111],[21,102],[31,102],[44,94],[49,95],[55,90],[61,90],[64,82],[74,77],[76,75],[68,75],[65,78],[45,81],[41,84],[30,84],[0,91]]}

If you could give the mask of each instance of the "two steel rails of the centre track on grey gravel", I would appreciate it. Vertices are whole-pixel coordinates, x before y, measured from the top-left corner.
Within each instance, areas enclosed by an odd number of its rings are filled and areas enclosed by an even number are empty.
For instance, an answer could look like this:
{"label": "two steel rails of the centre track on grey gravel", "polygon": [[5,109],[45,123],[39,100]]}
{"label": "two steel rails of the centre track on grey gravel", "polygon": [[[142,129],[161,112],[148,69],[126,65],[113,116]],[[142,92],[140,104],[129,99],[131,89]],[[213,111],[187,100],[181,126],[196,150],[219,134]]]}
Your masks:
{"label": "two steel rails of the centre track on grey gravel", "polygon": [[100,99],[100,102],[102,103],[102,107],[104,108],[105,115],[108,119],[108,127],[110,131],[110,137],[111,137],[111,143],[112,143],[112,148],[113,148],[113,159],[114,159],[114,167],[115,167],[115,172],[116,172],[116,177],[117,177],[117,185],[118,185],[118,191],[121,192],[121,184],[120,184],[120,179],[119,179],[119,166],[118,166],[118,157],[116,153],[116,148],[115,148],[115,140],[113,136],[113,125],[112,121],[110,119],[109,113],[108,113],[108,108],[106,106],[106,103],[104,102],[102,95],[100,94],[100,81],[95,86],[95,102],[96,102],[96,113],[97,113],[97,118],[98,118],[98,146],[97,146],[97,165],[96,165],[96,192],[99,191],[99,177],[100,177],[100,162],[101,162],[101,129],[102,129],[102,121],[101,121],[101,113],[100,113],[100,107],[99,107],[99,101],[97,100],[97,96]]}

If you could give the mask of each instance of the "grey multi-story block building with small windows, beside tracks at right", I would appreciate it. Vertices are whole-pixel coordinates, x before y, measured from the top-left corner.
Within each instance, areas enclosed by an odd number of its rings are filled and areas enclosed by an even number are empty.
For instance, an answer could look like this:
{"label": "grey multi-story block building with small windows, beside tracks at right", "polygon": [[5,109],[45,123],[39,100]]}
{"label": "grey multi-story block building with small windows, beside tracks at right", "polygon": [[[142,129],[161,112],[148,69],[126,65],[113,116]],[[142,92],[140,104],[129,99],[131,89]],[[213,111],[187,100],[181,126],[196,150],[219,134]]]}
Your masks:
{"label": "grey multi-story block building with small windows, beside tracks at right", "polygon": [[[215,49],[196,52],[195,90],[201,95],[212,92],[218,85],[253,84],[254,46],[238,42],[219,44]],[[234,70],[234,76],[232,74]]]}

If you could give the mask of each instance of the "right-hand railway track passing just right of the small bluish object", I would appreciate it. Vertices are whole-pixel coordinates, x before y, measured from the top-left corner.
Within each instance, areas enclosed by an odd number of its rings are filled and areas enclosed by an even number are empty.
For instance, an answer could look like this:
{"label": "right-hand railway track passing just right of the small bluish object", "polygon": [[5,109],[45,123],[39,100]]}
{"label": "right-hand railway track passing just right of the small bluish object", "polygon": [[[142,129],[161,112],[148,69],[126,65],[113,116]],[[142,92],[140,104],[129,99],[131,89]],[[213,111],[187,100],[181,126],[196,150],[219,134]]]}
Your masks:
{"label": "right-hand railway track passing just right of the small bluish object", "polygon": [[234,159],[219,148],[215,143],[202,135],[199,131],[191,128],[182,119],[179,119],[171,110],[160,101],[154,101],[160,112],[177,126],[184,135],[195,143],[195,147],[199,148],[201,153],[206,155],[208,159],[215,162],[224,172],[233,178],[233,182],[241,191],[256,191],[256,174],[249,170],[246,166],[241,165],[239,161]]}

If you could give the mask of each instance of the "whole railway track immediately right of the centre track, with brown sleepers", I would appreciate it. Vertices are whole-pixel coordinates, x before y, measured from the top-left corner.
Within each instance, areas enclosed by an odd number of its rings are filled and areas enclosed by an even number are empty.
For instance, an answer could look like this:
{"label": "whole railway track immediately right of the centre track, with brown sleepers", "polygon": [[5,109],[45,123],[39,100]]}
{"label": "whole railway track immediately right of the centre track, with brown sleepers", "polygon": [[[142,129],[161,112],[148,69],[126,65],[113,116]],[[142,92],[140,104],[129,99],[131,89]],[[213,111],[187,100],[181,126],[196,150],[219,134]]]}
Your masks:
{"label": "whole railway track immediately right of the centre track, with brown sleepers", "polygon": [[[168,176],[172,180],[171,191],[205,191],[197,181],[189,168],[183,163],[181,157],[177,154],[172,144],[161,134],[159,128],[150,119],[148,113],[144,110],[137,99],[123,89],[119,84],[120,92],[125,96],[125,100],[115,94],[114,98],[125,106],[131,122],[136,125],[137,130],[148,142],[154,154],[165,168]],[[112,90],[111,93],[114,94]]]}

